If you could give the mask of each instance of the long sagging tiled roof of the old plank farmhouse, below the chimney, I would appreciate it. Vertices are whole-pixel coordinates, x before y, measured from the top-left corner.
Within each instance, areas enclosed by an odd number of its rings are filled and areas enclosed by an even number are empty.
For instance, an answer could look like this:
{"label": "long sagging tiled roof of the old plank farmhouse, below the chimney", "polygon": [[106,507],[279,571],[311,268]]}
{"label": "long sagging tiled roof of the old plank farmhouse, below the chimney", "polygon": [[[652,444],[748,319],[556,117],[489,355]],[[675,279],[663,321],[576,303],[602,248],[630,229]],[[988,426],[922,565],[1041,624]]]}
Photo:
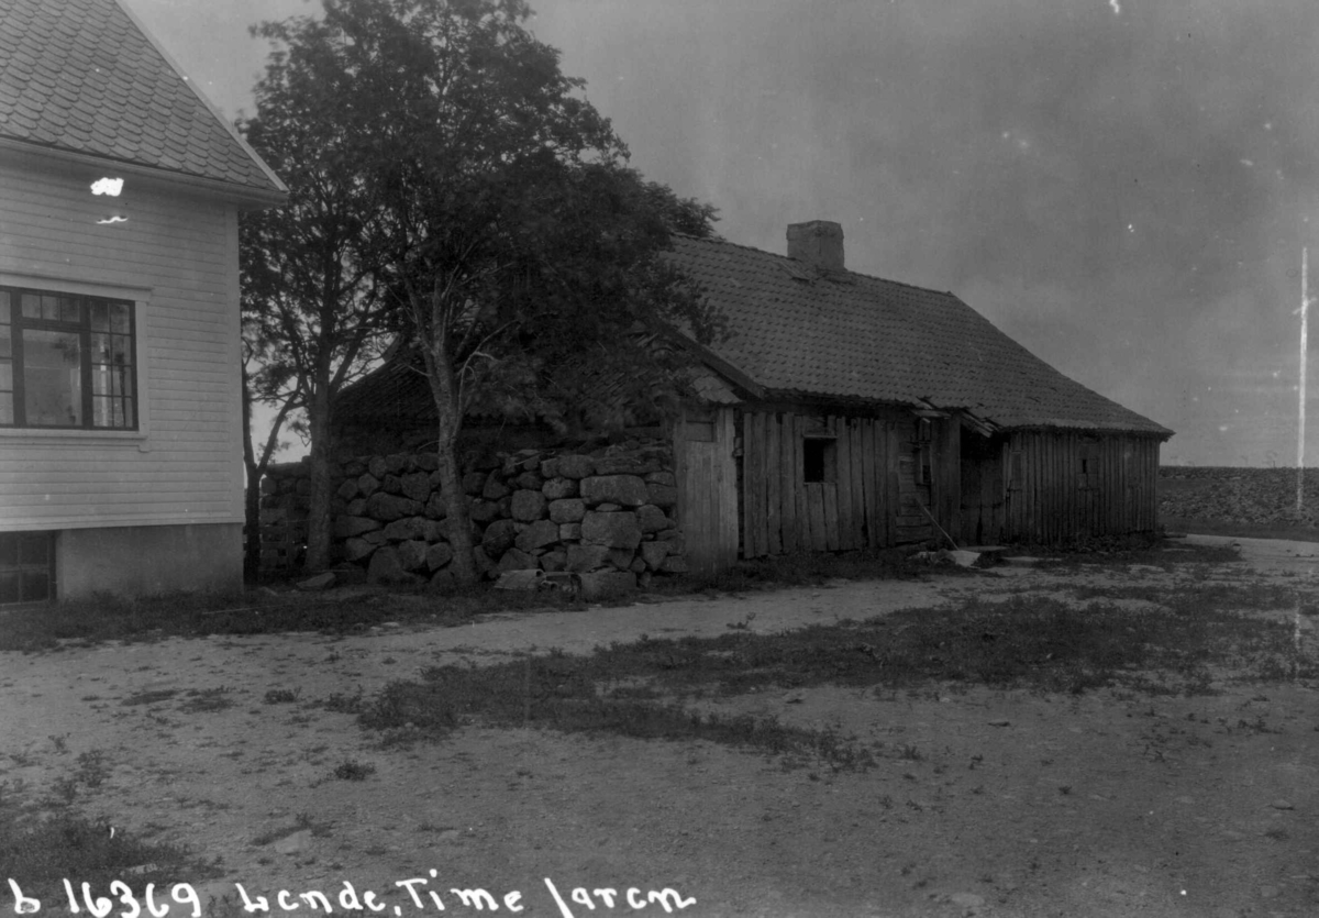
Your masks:
{"label": "long sagging tiled roof of the old plank farmhouse, below the chimney", "polygon": [[673,260],[728,319],[711,350],[772,397],[967,410],[1000,429],[1170,437],[1039,360],[951,293],[679,236]]}

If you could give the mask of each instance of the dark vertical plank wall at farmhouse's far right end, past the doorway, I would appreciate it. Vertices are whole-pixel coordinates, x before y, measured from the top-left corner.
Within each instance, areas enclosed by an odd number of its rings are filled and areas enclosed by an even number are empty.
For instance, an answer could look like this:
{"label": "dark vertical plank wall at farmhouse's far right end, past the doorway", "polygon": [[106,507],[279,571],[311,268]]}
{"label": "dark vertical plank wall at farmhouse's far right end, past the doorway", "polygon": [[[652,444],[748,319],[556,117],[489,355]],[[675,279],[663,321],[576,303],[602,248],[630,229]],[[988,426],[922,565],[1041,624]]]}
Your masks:
{"label": "dark vertical plank wall at farmhouse's far right end, past the doorway", "polygon": [[1159,441],[1151,437],[1012,434],[1004,459],[1006,538],[1055,543],[1153,530],[1158,452]]}

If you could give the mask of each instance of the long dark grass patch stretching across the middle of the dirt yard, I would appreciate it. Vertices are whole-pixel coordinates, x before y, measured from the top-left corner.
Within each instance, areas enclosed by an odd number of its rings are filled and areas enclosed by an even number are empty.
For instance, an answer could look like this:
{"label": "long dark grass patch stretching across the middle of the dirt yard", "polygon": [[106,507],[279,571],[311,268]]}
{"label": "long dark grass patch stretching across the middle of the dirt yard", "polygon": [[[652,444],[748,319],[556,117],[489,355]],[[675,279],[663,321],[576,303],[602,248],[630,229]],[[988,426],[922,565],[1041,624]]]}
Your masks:
{"label": "long dark grass patch stretching across the middle of the dirt yard", "polygon": [[[554,653],[495,666],[439,666],[394,682],[361,714],[369,728],[443,736],[462,725],[543,725],[640,739],[706,739],[864,768],[869,752],[828,731],[692,712],[682,699],[822,685],[892,690],[931,682],[1080,694],[1121,685],[1213,691],[1211,667],[1246,679],[1297,674],[1291,629],[1242,615],[1249,595],[1206,587],[1154,608],[1050,596],[972,599],[864,623],[781,634],[644,638],[590,656]],[[1262,608],[1256,605],[1252,608]],[[1314,666],[1303,663],[1303,674]],[[678,699],[678,700],[674,700]],[[906,753],[915,757],[918,750]]]}

